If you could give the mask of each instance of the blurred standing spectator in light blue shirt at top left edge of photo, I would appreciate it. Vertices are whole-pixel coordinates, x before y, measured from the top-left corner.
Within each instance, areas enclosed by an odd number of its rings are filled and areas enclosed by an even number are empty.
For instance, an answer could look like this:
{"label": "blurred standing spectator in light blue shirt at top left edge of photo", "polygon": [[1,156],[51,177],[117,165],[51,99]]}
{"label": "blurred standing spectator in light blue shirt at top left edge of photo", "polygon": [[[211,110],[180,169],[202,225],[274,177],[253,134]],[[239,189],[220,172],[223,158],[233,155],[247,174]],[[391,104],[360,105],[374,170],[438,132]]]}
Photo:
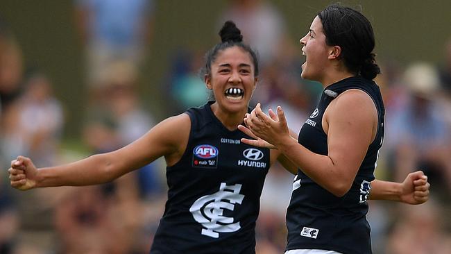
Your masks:
{"label": "blurred standing spectator in light blue shirt at top left edge of photo", "polygon": [[75,10],[92,90],[111,62],[124,60],[139,69],[153,30],[153,0],[75,0]]}

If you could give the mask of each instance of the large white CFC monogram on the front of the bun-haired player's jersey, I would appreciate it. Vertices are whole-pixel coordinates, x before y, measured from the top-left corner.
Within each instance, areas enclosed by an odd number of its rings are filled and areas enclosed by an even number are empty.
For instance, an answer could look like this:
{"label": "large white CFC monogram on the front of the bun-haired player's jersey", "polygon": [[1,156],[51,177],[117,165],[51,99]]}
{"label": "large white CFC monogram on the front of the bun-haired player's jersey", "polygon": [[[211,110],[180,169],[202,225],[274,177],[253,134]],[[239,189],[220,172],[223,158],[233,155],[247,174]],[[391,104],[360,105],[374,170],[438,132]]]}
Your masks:
{"label": "large white CFC monogram on the front of the bun-haired player's jersey", "polygon": [[[203,226],[202,235],[219,238],[219,232],[235,232],[241,228],[239,221],[233,222],[231,217],[224,217],[224,209],[233,211],[235,203],[241,204],[244,195],[239,194],[241,185],[226,185],[221,183],[219,192],[198,198],[189,212]],[[229,201],[229,202],[226,202]]]}

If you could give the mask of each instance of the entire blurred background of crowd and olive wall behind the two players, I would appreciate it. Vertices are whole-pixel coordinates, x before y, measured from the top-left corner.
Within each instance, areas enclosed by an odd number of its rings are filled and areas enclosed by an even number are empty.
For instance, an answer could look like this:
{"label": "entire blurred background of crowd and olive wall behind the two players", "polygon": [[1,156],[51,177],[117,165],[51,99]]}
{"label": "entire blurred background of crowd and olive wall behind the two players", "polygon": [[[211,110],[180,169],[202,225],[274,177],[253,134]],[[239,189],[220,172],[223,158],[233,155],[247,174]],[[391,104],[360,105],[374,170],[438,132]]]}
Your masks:
{"label": "entire blurred background of crowd and olive wall behind the two players", "polygon": [[[203,104],[197,71],[226,19],[259,51],[253,103],[282,105],[298,131],[321,92],[300,79],[298,40],[333,2],[1,0],[0,254],[147,253],[166,199],[162,160],[108,185],[30,192],[9,187],[10,160],[44,167],[111,151]],[[341,3],[375,29],[387,111],[377,178],[423,169],[432,183],[424,205],[370,202],[373,251],[450,253],[451,2]],[[283,252],[291,179],[277,166],[266,178],[257,253]]]}

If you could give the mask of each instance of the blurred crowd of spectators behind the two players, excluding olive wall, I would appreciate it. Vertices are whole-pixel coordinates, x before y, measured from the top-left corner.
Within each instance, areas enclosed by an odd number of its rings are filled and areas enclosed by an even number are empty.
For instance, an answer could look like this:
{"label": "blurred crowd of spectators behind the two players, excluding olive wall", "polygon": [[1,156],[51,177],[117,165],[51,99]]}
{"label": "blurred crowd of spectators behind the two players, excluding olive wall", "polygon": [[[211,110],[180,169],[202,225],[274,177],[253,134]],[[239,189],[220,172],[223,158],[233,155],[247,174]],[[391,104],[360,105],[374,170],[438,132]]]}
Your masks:
{"label": "blurred crowd of spectators behind the two players, excluding olive wall", "polygon": [[[120,11],[118,11],[120,10]],[[143,57],[152,43],[152,0],[74,1],[76,27],[85,51],[87,105],[83,149],[63,149],[64,103],[51,76],[27,66],[21,42],[0,20],[0,164],[17,155],[37,167],[70,162],[118,149],[155,124],[137,92]],[[0,17],[1,18],[1,17]],[[284,17],[266,1],[230,0],[214,24],[231,19],[258,53],[262,69],[251,106],[282,105],[298,132],[316,106],[322,87],[300,78],[300,46],[288,37]],[[212,30],[218,30],[212,28]],[[450,35],[451,36],[451,35]],[[207,49],[205,49],[207,50]],[[180,48],[167,67],[164,114],[203,105],[207,91],[198,70],[203,51]],[[378,56],[386,107],[386,135],[375,171],[402,181],[421,169],[429,176],[430,200],[417,206],[370,201],[368,221],[375,254],[441,254],[451,250],[451,37],[443,62],[409,62]],[[67,146],[65,146],[67,147]],[[148,253],[166,201],[164,161],[112,183],[19,192],[0,171],[0,254]],[[276,164],[266,177],[257,221],[257,253],[283,253],[284,214],[293,176]]]}

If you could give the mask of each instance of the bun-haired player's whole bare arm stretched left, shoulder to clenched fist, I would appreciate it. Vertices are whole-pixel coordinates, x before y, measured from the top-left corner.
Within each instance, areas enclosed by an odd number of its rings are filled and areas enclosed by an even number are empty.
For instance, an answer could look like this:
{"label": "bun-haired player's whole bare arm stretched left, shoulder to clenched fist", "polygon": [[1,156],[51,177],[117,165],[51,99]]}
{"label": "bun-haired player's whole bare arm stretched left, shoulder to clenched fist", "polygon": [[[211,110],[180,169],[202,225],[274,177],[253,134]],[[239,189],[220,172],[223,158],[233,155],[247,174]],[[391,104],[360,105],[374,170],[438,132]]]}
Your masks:
{"label": "bun-haired player's whole bare arm stretched left, shoulder to clenched fist", "polygon": [[185,149],[190,120],[185,114],[171,117],[135,142],[117,151],[92,155],[56,167],[37,169],[29,158],[19,156],[8,169],[10,184],[17,189],[52,186],[80,186],[108,183],[165,156],[175,158]]}

